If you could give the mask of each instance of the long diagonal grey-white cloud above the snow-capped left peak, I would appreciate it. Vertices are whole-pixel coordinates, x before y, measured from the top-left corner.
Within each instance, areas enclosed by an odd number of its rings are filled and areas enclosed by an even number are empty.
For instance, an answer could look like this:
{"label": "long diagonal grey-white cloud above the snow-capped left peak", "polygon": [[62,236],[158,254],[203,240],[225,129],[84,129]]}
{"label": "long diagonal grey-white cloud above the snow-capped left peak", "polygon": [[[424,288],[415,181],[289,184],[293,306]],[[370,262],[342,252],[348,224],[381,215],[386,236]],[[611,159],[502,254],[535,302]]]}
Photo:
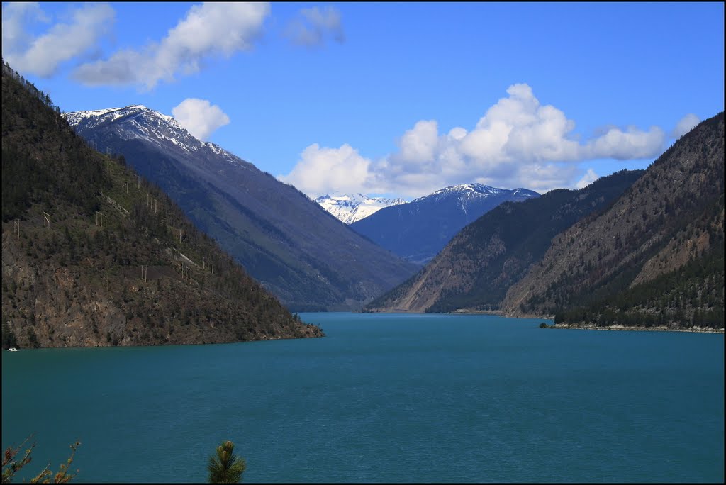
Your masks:
{"label": "long diagonal grey-white cloud above the snow-capped left peak", "polygon": [[267,3],[194,5],[158,43],[87,62],[73,76],[91,86],[138,84],[151,89],[159,81],[174,81],[177,73],[199,71],[212,57],[231,57],[252,49],[269,11]]}

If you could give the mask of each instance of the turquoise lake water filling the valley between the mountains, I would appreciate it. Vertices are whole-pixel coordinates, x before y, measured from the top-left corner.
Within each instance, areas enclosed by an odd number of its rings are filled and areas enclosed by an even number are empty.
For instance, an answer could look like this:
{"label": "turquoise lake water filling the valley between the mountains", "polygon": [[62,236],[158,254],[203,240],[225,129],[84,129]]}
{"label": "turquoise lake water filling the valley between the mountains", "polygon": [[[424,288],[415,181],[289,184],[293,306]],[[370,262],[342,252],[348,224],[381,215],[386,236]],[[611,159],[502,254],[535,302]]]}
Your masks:
{"label": "turquoise lake water filling the valley between the mountains", "polygon": [[[2,445],[76,482],[724,480],[724,335],[301,314],[327,337],[2,353]],[[20,481],[20,480],[18,480]]]}

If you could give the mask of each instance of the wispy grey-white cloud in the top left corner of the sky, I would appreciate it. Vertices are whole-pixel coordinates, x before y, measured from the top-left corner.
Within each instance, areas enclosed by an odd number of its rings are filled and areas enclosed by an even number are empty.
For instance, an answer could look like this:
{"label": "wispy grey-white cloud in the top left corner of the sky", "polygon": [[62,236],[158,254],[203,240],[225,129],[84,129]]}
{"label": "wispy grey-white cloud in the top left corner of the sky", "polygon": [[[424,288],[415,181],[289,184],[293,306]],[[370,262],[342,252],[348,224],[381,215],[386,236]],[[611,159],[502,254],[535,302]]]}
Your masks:
{"label": "wispy grey-white cloud in the top left corner of the sky", "polygon": [[115,12],[108,4],[73,9],[68,23],[56,23],[33,37],[28,25],[49,22],[37,3],[8,3],[2,7],[2,56],[20,73],[49,78],[62,62],[96,49],[99,38],[110,32]]}

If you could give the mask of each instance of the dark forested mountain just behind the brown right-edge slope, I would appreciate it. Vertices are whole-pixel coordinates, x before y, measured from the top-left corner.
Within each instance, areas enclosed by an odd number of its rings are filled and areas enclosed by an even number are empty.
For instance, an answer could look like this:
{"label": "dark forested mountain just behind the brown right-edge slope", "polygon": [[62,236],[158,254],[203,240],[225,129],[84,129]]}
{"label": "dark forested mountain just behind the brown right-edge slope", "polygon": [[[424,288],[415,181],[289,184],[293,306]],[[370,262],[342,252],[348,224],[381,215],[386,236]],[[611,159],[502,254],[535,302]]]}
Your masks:
{"label": "dark forested mountain just behind the brown right-edge slope", "polygon": [[414,277],[369,311],[498,309],[507,290],[544,256],[552,237],[619,197],[643,171],[621,171],[579,190],[505,202],[464,227]]}

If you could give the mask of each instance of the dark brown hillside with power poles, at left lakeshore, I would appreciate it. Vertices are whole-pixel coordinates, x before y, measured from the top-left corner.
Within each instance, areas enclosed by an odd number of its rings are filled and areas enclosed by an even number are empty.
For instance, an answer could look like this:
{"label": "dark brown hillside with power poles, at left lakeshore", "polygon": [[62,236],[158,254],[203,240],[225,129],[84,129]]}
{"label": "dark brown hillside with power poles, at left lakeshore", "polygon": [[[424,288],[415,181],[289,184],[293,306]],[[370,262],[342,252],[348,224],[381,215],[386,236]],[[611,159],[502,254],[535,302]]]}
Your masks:
{"label": "dark brown hillside with power poles, at left lakeshore", "polygon": [[5,64],[1,110],[3,346],[322,335]]}

